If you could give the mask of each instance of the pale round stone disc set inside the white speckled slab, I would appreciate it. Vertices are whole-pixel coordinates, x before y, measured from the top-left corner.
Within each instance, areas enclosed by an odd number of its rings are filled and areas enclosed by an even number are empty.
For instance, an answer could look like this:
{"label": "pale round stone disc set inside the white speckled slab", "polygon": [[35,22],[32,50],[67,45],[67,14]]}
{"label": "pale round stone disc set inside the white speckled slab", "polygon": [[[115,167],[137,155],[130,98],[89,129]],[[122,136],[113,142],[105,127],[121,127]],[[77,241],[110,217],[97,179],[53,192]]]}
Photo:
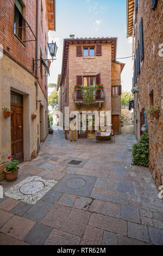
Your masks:
{"label": "pale round stone disc set inside the white speckled slab", "polygon": [[35,194],[43,190],[45,184],[42,181],[30,181],[20,187],[22,194]]}

